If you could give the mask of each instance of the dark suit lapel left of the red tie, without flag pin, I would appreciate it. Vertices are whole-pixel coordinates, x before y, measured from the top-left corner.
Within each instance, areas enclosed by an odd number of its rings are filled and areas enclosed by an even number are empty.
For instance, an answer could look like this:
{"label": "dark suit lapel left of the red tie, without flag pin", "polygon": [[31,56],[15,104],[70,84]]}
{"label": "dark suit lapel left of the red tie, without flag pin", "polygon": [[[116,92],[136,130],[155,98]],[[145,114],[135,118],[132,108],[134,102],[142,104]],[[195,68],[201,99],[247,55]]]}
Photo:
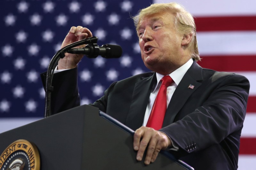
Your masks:
{"label": "dark suit lapel left of the red tie, without flag pin", "polygon": [[156,81],[156,73],[148,78],[142,78],[134,86],[132,103],[125,122],[125,125],[133,130],[142,126],[154,81]]}

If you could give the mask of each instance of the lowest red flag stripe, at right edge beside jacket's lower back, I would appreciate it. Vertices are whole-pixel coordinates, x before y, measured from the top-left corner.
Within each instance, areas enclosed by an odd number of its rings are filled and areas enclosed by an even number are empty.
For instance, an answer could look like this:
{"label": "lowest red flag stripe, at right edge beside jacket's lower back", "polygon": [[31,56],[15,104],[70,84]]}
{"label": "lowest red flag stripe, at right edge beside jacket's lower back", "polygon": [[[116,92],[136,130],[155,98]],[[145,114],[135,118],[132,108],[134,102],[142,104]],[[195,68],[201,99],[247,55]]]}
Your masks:
{"label": "lowest red flag stripe, at right edge beside jacket's lower back", "polygon": [[239,154],[256,154],[256,138],[241,137],[240,139],[240,152]]}

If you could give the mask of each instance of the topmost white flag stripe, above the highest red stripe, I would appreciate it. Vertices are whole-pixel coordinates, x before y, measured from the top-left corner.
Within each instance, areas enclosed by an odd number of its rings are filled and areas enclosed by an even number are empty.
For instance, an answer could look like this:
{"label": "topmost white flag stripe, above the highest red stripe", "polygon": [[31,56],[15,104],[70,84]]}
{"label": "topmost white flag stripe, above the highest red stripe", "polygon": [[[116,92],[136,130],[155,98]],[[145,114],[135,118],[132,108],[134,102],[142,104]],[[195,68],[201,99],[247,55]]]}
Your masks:
{"label": "topmost white flag stripe, above the highest red stripe", "polygon": [[[169,3],[172,0],[154,0],[154,3]],[[194,16],[255,15],[255,0],[175,0]]]}

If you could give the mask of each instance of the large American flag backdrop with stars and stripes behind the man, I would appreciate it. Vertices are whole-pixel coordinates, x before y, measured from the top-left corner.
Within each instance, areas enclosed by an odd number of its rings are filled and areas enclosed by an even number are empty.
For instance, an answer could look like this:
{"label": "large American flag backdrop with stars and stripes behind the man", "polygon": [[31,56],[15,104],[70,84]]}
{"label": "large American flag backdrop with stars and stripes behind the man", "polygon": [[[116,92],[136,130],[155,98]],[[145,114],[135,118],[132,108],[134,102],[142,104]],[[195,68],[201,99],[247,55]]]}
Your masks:
{"label": "large American flag backdrop with stars and stripes behind the man", "polygon": [[[169,0],[3,0],[0,10],[0,133],[44,116],[40,73],[71,26],[88,27],[98,44],[118,44],[119,59],[84,57],[79,63],[81,104],[101,97],[113,82],[148,71],[130,16],[152,3]],[[251,88],[242,130],[239,170],[256,161],[256,1],[177,0],[196,20],[202,67],[236,72]],[[1,144],[0,139],[0,144]]]}

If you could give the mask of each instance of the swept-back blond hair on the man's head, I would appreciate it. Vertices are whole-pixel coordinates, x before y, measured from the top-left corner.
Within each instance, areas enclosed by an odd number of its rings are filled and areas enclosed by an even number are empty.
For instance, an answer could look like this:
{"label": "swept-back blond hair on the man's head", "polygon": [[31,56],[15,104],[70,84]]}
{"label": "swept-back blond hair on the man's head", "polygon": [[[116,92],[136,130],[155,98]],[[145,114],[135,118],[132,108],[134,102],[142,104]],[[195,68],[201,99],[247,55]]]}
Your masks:
{"label": "swept-back blond hair on the man's head", "polygon": [[139,15],[132,17],[136,31],[138,32],[138,24],[142,18],[164,11],[172,12],[174,14],[174,27],[178,33],[183,35],[192,34],[191,42],[188,44],[187,48],[192,58],[194,58],[196,61],[201,60],[197,47],[195,20],[193,16],[178,3],[172,2],[167,4],[151,4],[147,8],[140,10]]}

